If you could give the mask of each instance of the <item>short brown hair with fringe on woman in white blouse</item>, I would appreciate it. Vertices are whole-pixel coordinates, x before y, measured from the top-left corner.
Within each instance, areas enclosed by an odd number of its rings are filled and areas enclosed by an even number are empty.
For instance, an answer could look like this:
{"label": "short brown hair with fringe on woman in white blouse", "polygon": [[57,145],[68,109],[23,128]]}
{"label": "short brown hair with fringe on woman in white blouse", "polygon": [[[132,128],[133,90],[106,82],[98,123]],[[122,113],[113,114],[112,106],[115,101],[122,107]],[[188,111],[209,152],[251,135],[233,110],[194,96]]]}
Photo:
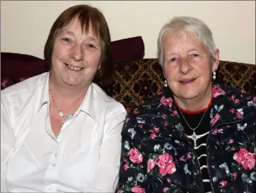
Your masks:
{"label": "short brown hair with fringe on woman in white blouse", "polygon": [[59,15],[51,26],[51,31],[44,46],[44,59],[49,66],[49,70],[51,70],[51,54],[56,35],[74,18],[77,18],[80,22],[83,33],[88,33],[89,24],[92,24],[92,30],[99,37],[102,46],[101,68],[97,71],[94,81],[99,82],[102,86],[110,84],[114,78],[114,63],[111,53],[109,26],[99,9],[85,4],[69,7]]}

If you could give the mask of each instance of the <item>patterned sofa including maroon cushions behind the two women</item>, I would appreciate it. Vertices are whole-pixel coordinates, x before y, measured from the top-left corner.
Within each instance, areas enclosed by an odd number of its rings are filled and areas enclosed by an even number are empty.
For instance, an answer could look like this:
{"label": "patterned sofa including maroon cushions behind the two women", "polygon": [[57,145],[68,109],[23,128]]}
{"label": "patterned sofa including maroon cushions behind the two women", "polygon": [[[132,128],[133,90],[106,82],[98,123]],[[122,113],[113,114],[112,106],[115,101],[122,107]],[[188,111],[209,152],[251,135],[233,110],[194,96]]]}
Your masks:
{"label": "patterned sofa including maroon cushions behind the two women", "polygon": [[[164,76],[157,59],[144,59],[141,36],[112,42],[115,77],[112,84],[99,86],[121,102],[130,113],[164,86]],[[1,52],[1,89],[48,71],[44,59],[27,54]],[[234,61],[220,61],[217,79],[220,84],[236,86],[256,94],[256,66]]]}

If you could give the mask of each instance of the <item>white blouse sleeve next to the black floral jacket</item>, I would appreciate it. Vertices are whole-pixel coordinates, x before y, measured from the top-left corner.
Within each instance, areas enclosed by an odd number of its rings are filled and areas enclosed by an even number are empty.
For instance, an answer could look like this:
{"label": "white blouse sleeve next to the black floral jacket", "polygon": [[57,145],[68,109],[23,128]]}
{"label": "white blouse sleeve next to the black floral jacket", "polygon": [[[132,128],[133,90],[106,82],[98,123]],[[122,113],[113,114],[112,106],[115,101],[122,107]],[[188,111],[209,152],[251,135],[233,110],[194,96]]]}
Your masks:
{"label": "white blouse sleeve next to the black floral jacket", "polygon": [[126,112],[105,124],[105,134],[100,145],[100,158],[92,186],[88,192],[114,192],[119,179],[121,132]]}

